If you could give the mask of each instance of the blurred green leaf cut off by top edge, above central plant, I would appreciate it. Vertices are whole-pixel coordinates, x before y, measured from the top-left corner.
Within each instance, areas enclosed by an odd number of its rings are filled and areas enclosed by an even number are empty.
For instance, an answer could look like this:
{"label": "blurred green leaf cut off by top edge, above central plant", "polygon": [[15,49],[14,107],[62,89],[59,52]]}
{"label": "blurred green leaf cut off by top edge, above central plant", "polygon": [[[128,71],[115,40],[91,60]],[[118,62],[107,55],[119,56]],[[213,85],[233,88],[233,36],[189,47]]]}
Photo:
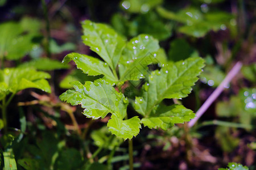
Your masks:
{"label": "blurred green leaf cut off by top edge, above central plant", "polygon": [[160,5],[163,0],[125,0],[121,2],[123,10],[127,10],[133,13],[146,13],[157,5]]}

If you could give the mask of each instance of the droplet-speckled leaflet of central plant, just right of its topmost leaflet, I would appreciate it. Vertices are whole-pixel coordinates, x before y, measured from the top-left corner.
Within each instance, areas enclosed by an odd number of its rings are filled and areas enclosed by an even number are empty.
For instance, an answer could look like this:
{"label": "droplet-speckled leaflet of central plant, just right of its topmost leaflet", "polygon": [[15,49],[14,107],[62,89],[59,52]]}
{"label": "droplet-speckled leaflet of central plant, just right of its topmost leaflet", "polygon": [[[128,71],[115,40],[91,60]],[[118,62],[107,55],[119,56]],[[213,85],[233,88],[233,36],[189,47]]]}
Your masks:
{"label": "droplet-speckled leaflet of central plant, just right of its topmost leaflet", "polygon": [[144,78],[151,63],[158,63],[158,40],[149,35],[139,35],[131,39],[123,50],[119,61],[120,80],[139,80]]}

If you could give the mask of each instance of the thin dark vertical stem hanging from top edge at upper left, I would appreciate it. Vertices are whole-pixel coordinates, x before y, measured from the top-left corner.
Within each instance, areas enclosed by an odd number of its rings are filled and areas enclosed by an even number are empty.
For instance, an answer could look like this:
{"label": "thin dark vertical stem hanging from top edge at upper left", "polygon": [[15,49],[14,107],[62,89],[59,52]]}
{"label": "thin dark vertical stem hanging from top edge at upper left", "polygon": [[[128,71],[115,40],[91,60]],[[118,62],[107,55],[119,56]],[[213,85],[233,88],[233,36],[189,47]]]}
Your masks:
{"label": "thin dark vertical stem hanging from top edge at upper left", "polygon": [[46,6],[46,1],[45,0],[41,0],[42,2],[42,6],[43,6],[43,10],[44,10],[44,19],[46,20],[46,34],[47,34],[47,38],[46,38],[46,53],[47,56],[49,58],[51,58],[51,50],[49,48],[49,41],[51,39],[51,32],[50,32],[50,28],[49,28],[49,17],[48,17],[48,10],[47,10],[47,6]]}

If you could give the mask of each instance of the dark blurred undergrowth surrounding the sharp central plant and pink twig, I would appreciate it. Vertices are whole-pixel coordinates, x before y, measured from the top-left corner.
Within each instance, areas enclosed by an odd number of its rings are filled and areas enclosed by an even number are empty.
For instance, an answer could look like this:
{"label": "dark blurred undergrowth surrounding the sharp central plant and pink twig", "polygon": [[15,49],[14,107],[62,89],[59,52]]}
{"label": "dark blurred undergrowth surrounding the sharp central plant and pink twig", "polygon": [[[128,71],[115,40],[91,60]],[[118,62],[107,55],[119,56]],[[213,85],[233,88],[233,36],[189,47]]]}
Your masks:
{"label": "dark blurred undergrowth surrounding the sharp central plant and pink twig", "polygon": [[[90,19],[108,23],[127,39],[152,35],[170,62],[203,57],[200,81],[191,95],[177,100],[195,112],[233,65],[243,63],[241,73],[193,128],[142,130],[134,139],[134,168],[217,169],[237,162],[254,169],[255,7],[253,0],[0,0],[1,68],[33,68],[52,76],[52,94],[29,89],[11,101],[8,133],[0,134],[1,151],[14,153],[18,169],[129,168],[127,142],[102,128],[108,120],[85,118],[81,108],[58,99],[71,88],[69,82],[101,77],[61,64],[70,52],[98,57],[81,41],[80,22]],[[139,92],[139,82],[134,83],[127,91],[131,96]],[[1,155],[1,166],[3,160]]]}

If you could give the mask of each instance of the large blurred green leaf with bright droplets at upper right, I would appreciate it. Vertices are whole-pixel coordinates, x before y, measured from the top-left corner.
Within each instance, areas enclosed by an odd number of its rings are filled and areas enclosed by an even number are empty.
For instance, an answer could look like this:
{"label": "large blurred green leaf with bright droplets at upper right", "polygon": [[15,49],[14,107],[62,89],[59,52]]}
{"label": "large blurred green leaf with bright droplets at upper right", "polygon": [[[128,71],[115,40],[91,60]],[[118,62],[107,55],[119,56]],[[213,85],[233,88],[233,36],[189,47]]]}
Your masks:
{"label": "large blurred green leaf with bright droplets at upper right", "polygon": [[163,18],[183,23],[184,25],[177,30],[194,37],[203,37],[210,30],[226,29],[230,25],[230,20],[233,19],[233,16],[226,12],[218,11],[203,14],[194,7],[183,8],[178,12],[167,11],[163,7],[158,7],[157,11]]}

